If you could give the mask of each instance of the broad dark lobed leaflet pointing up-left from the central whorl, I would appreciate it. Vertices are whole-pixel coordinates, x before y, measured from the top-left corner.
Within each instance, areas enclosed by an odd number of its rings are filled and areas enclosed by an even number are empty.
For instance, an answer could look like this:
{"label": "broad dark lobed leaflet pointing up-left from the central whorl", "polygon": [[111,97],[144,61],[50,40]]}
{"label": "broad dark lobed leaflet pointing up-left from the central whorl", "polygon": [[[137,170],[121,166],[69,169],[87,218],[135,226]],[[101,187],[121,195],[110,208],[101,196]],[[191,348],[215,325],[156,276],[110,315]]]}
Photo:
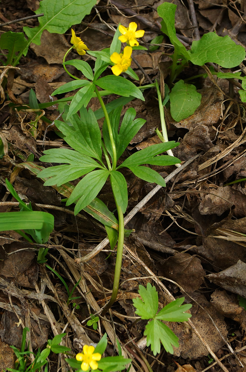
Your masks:
{"label": "broad dark lobed leaflet pointing up-left from the central whorl", "polygon": [[65,135],[64,140],[79,153],[102,161],[101,132],[91,109],[80,109],[79,115],[70,117],[73,126],[68,126],[62,121],[55,120],[57,128]]}

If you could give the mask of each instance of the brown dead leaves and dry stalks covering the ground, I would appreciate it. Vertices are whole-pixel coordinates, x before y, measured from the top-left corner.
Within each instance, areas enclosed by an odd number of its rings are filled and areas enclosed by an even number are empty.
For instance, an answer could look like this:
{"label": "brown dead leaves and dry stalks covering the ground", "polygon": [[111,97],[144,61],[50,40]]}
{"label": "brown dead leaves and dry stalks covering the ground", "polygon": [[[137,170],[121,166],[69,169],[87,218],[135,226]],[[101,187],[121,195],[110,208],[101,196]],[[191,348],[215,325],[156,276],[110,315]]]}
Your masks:
{"label": "brown dead leaves and dry stalks covering the ground", "polygon": [[[178,6],[175,17],[176,32],[188,49],[194,37],[189,2],[174,2]],[[4,7],[6,3],[5,0],[1,1],[4,22],[5,19],[32,15],[32,10],[38,9],[39,5],[36,1],[21,0],[16,9],[11,1],[8,7]],[[157,25],[161,18],[157,17],[155,11],[162,1],[138,1],[134,7],[129,1],[121,1],[120,7],[123,6],[123,9],[120,11],[117,10],[118,3],[111,3],[115,6],[107,7],[106,4],[99,3],[99,6],[102,6],[100,17],[96,17],[96,10],[93,8],[91,14],[86,15],[82,23],[76,25],[76,32],[83,32],[83,41],[90,49],[109,47],[114,34],[112,27],[116,28],[118,22],[128,26],[132,21],[128,16],[133,13],[133,20],[139,22],[140,27],[146,31],[144,42],[150,42],[159,35]],[[224,7],[225,3],[220,0],[213,3],[194,3],[201,35],[215,30],[219,36],[230,35],[233,40],[237,40],[237,44],[246,44],[245,23],[239,16],[240,8],[237,4],[227,1]],[[26,21],[24,26],[27,25],[36,26],[38,22],[31,19]],[[3,29],[21,32],[22,27],[23,25],[17,23],[4,26]],[[33,37],[35,32],[32,29]],[[50,102],[54,89],[71,81],[70,77],[64,74],[61,64],[64,52],[70,45],[70,37],[70,29],[62,34],[45,30],[41,36],[41,45],[31,44],[31,51],[21,58],[20,70],[16,70],[12,86],[10,85],[10,100],[28,104],[29,91],[32,88],[35,89],[40,103]],[[168,55],[172,52],[169,39],[164,36],[159,49],[137,50],[133,55],[145,75],[148,74],[154,81],[160,80],[158,63],[162,54]],[[74,58],[78,59],[78,56],[74,54]],[[93,62],[93,57],[86,58],[89,63]],[[166,77],[168,62],[163,66],[162,76]],[[71,73],[81,76],[73,66],[67,67]],[[131,67],[142,84],[147,82],[146,76],[134,62]],[[198,67],[195,74],[205,72],[203,68]],[[180,78],[185,81],[192,76],[194,71],[191,68],[185,70]],[[245,116],[242,104],[241,108],[238,105],[237,89],[231,88],[228,81],[216,81],[214,78],[214,75],[209,75],[199,79],[201,105],[188,118],[176,122],[170,116],[170,108],[166,109],[169,140],[180,141],[179,147],[176,147],[173,153],[182,161],[196,156],[191,164],[173,176],[166,188],[160,188],[154,193],[153,184],[143,182],[133,174],[126,175],[130,196],[127,213],[137,207],[137,213],[126,227],[135,229],[135,232],[125,238],[121,287],[117,302],[112,308],[114,323],[101,319],[100,327],[104,327],[113,346],[113,326],[122,345],[133,337],[137,337],[136,342],[140,345],[141,340],[144,340],[145,324],[144,320],[135,323],[136,314],[133,311],[132,299],[138,298],[139,285],[146,287],[149,282],[156,283],[159,308],[171,301],[173,296],[185,296],[185,303],[193,305],[190,310],[193,325],[212,352],[217,353],[220,358],[226,356],[223,359],[224,366],[228,371],[234,372],[243,371],[242,366],[246,366],[245,352],[241,350],[245,345],[245,309],[240,306],[237,297],[239,295],[246,298],[246,190],[243,180],[246,177]],[[135,99],[126,104],[122,111],[124,114],[132,105],[137,112],[137,118],[147,120],[122,155],[122,160],[132,151],[160,143],[155,132],[156,128],[161,129],[156,93],[152,89],[144,95],[145,102]],[[112,102],[115,98],[117,96],[112,94],[105,103]],[[99,108],[97,101],[93,99],[90,106],[93,110]],[[51,107],[45,109],[45,116],[52,121],[57,118],[59,112],[54,105],[51,114]],[[0,207],[4,208],[3,211],[17,210],[17,203],[11,198],[4,184],[5,177],[11,177],[21,199],[31,202],[34,210],[48,211],[55,217],[55,230],[49,239],[48,265],[66,280],[70,290],[82,277],[74,292],[74,296],[79,297],[76,299],[76,305],[80,308],[75,309],[71,305],[68,307],[66,301],[63,301],[63,298],[67,298],[63,283],[45,264],[36,263],[37,248],[24,242],[15,232],[1,234],[0,369],[6,369],[13,367],[14,362],[11,352],[8,351],[9,364],[3,364],[6,360],[6,350],[9,350],[8,345],[19,347],[22,335],[22,328],[16,325],[19,321],[28,324],[31,329],[28,337],[33,350],[46,343],[49,333],[61,333],[65,324],[68,324],[69,331],[74,333],[72,344],[69,339],[67,342],[75,352],[84,343],[99,341],[99,331],[86,327],[86,322],[91,312],[96,314],[105,303],[105,298],[110,298],[116,255],[105,245],[105,252],[95,255],[84,266],[74,263],[74,258],[86,257],[106,237],[105,228],[86,212],[74,217],[61,203],[61,199],[69,196],[71,187],[79,180],[63,189],[43,186],[41,179],[36,178],[38,168],[23,163],[28,161],[30,156],[34,156],[34,164],[43,166],[38,159],[44,148],[47,150],[67,145],[58,137],[59,132],[55,125],[48,127],[42,119],[38,119],[38,131],[33,136],[30,123],[36,118],[35,111],[27,112],[22,109],[17,114],[9,106],[3,105],[0,115],[3,122],[1,139],[3,144],[5,143],[5,154],[0,159]],[[166,177],[175,167],[153,166],[153,169]],[[138,204],[150,194],[152,197],[147,202]],[[108,201],[112,211],[114,204],[110,195],[109,184],[106,183],[99,199]],[[109,257],[106,258],[107,256]],[[201,371],[210,367],[210,352],[194,328],[192,330],[191,323],[169,322],[168,325],[179,337],[180,346],[174,347],[175,362],[163,349],[158,359],[154,359],[146,347],[146,342],[141,346],[153,371],[163,370],[163,364],[164,370],[169,372],[174,371],[176,367],[179,372]],[[228,343],[234,354],[231,353]],[[113,352],[112,345],[110,350],[107,350],[109,354]],[[55,370],[56,362],[54,356],[50,361],[52,371]],[[132,368],[136,370],[139,366],[135,364]],[[212,368],[213,371],[220,370],[218,365]],[[65,371],[64,366],[62,371]]]}

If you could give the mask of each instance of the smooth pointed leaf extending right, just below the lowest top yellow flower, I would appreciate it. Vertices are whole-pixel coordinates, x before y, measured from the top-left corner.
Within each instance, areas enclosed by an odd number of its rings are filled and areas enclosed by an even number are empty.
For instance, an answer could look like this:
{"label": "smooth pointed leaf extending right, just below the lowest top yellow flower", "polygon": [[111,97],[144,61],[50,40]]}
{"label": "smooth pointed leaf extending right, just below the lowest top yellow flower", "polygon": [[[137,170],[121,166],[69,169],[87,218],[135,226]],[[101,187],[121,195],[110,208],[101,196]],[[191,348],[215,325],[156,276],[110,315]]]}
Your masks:
{"label": "smooth pointed leaf extending right, just below the lowest top yellow flower", "polygon": [[143,93],[130,80],[122,76],[108,75],[101,77],[95,82],[102,89],[109,90],[120,96],[134,96],[144,101]]}

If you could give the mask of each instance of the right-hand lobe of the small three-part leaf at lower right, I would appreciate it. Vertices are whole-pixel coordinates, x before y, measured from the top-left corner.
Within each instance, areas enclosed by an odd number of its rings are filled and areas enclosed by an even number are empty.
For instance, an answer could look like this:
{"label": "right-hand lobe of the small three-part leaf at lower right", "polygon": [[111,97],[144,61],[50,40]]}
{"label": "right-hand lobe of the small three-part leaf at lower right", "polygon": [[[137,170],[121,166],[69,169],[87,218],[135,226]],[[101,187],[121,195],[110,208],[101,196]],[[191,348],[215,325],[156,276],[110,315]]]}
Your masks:
{"label": "right-hand lobe of the small three-part leaf at lower right", "polygon": [[189,310],[192,305],[186,304],[182,305],[185,298],[181,297],[175,301],[170,302],[170,304],[164,306],[162,310],[156,315],[156,319],[165,320],[167,322],[184,322],[191,318],[191,314],[184,312]]}

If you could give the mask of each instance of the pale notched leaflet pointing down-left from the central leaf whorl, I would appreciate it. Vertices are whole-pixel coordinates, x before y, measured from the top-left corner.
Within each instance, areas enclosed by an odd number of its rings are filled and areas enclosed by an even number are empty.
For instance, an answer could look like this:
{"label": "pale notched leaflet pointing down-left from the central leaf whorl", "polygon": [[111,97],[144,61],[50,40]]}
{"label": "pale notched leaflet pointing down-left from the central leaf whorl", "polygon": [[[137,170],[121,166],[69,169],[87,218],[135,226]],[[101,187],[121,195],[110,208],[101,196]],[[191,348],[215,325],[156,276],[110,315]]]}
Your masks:
{"label": "pale notched leaflet pointing down-left from the central leaf whorl", "polygon": [[86,174],[84,178],[75,186],[66,205],[71,205],[79,199],[74,208],[74,215],[84,209],[98,195],[109,176],[108,170],[94,170]]}

